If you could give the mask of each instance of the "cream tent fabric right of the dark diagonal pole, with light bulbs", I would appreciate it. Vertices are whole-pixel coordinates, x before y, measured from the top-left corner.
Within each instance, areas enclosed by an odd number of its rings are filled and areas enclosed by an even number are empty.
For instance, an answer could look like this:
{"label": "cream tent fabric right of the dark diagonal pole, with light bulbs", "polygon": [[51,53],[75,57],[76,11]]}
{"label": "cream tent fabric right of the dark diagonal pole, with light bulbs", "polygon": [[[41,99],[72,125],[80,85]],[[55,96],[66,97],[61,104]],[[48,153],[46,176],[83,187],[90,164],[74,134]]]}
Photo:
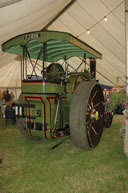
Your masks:
{"label": "cream tent fabric right of the dark diagonal pole, with light bulbs", "polygon": [[101,83],[125,84],[125,1],[77,0],[49,29],[71,32],[103,54],[97,61]]}

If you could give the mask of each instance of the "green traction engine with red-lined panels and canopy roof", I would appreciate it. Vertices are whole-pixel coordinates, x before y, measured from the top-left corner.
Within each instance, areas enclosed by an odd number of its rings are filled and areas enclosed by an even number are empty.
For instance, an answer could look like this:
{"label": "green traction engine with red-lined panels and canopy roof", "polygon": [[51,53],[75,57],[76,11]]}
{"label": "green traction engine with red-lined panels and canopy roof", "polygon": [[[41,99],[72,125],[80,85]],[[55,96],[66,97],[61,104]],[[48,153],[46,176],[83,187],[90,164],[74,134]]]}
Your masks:
{"label": "green traction engine with red-lined panels and canopy roof", "polygon": [[104,127],[104,97],[96,81],[96,59],[102,55],[56,31],[22,34],[2,49],[21,56],[15,113],[23,135],[34,140],[71,135],[77,147],[93,149]]}

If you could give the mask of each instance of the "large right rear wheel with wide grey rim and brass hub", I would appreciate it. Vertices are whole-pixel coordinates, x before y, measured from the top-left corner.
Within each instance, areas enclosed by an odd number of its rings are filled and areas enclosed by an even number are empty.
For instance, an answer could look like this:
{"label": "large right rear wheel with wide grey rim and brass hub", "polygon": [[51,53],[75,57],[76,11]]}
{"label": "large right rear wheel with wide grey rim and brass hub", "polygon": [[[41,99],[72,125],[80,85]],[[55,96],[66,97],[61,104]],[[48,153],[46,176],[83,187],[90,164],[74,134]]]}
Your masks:
{"label": "large right rear wheel with wide grey rim and brass hub", "polygon": [[70,108],[70,132],[73,143],[93,149],[104,127],[104,96],[96,81],[81,82],[75,90]]}

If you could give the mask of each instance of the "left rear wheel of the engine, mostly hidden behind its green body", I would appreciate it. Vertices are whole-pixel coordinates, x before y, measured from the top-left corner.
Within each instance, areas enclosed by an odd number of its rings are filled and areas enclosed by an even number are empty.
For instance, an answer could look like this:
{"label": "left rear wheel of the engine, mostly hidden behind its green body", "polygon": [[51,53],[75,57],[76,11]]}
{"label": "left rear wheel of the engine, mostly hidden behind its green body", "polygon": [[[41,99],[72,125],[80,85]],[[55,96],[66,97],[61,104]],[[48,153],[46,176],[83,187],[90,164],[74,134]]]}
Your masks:
{"label": "left rear wheel of the engine, mostly hidden behind its green body", "polygon": [[[26,101],[24,99],[24,97],[22,96],[22,94],[20,95],[19,99],[18,99],[18,104],[25,104]],[[27,114],[28,110],[26,109],[24,111],[24,114]],[[20,132],[28,139],[31,140],[41,140],[43,137],[43,133],[41,131],[34,131],[31,128],[26,126],[26,118],[17,118],[16,120],[17,122],[17,126],[20,130]]]}

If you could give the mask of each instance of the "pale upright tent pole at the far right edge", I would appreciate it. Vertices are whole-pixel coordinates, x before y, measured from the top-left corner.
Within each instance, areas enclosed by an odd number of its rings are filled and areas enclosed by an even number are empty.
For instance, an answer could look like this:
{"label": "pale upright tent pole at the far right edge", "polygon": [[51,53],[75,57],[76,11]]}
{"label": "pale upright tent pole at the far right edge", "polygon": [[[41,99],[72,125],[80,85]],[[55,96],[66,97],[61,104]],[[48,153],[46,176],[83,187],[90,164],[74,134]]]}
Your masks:
{"label": "pale upright tent pole at the far right edge", "polygon": [[[126,99],[128,98],[128,0],[125,0],[125,58],[126,58]],[[126,104],[127,104],[126,100]],[[128,111],[128,107],[126,105],[126,112]],[[128,113],[126,113],[126,117],[128,117]],[[124,137],[124,154],[128,157],[128,120],[125,119],[125,137]]]}

